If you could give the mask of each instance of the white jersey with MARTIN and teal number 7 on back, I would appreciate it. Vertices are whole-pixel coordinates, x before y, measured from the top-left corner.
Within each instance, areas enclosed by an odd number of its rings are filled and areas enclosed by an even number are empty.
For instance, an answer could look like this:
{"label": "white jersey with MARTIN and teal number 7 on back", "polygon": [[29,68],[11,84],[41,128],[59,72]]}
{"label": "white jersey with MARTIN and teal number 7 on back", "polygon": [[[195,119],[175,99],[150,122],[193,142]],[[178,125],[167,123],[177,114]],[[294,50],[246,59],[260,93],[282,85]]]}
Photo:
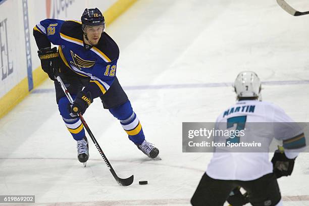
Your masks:
{"label": "white jersey with MARTIN and teal number 7 on back", "polygon": [[[270,144],[273,138],[288,140],[287,142],[295,139],[297,142],[301,141],[299,147],[304,147],[304,135],[301,128],[294,127],[295,123],[292,124],[294,128],[291,128],[290,123],[294,121],[282,109],[270,102],[258,100],[237,101],[235,105],[217,118],[216,129],[226,129],[228,121],[235,119],[235,117],[245,117],[246,123],[270,123],[267,124],[267,129],[247,130],[245,133],[247,140],[252,138],[252,140],[257,141],[260,138]],[[280,122],[280,124],[272,124],[274,122]],[[219,128],[222,125],[225,125],[225,128]],[[297,138],[295,138],[295,134]],[[300,150],[297,150],[297,147],[294,147],[293,150],[285,149],[286,156],[290,159],[295,158],[298,152],[294,151]],[[269,161],[268,152],[214,152],[206,171],[207,175],[214,179],[242,181],[258,179],[272,172],[273,165]]]}

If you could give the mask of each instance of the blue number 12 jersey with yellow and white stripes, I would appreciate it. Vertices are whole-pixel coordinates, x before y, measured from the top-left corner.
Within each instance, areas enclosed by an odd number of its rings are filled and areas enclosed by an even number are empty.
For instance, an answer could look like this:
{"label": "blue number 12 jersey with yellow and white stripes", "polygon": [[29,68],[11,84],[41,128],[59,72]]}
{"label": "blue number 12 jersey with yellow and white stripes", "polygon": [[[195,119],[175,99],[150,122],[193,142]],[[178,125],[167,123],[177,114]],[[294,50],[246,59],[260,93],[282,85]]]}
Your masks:
{"label": "blue number 12 jersey with yellow and white stripes", "polygon": [[[45,19],[33,29],[34,33],[39,32],[44,39],[48,39],[49,46],[50,42],[59,45],[60,57],[66,65],[61,72],[69,69],[81,77],[90,78],[85,89],[92,93],[93,98],[110,88],[116,75],[119,48],[107,33],[102,33],[97,45],[89,46],[84,44],[79,21]],[[39,46],[38,41],[36,38]]]}

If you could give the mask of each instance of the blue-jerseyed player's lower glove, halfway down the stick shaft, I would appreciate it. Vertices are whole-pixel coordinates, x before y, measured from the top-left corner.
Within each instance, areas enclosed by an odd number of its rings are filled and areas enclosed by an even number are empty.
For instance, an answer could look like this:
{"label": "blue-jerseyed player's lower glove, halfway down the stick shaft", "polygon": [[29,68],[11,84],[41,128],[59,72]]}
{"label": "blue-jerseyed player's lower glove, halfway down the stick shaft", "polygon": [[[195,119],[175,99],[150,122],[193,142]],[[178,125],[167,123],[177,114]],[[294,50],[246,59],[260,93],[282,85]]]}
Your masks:
{"label": "blue-jerseyed player's lower glove, halfway down the stick shaft", "polygon": [[78,113],[84,114],[89,105],[93,102],[90,91],[78,92],[73,105],[71,107],[71,113],[77,115]]}

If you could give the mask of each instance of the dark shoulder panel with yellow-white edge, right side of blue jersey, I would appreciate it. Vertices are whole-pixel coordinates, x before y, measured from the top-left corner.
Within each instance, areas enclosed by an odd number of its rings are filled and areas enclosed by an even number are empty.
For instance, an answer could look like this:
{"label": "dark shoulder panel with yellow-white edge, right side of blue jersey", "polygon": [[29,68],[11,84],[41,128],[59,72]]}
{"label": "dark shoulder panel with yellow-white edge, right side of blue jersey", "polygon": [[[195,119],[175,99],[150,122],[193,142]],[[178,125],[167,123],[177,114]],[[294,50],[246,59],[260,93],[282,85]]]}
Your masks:
{"label": "dark shoulder panel with yellow-white edge, right side of blue jersey", "polygon": [[100,41],[91,50],[105,62],[112,62],[119,58],[119,47],[107,33],[102,33]]}

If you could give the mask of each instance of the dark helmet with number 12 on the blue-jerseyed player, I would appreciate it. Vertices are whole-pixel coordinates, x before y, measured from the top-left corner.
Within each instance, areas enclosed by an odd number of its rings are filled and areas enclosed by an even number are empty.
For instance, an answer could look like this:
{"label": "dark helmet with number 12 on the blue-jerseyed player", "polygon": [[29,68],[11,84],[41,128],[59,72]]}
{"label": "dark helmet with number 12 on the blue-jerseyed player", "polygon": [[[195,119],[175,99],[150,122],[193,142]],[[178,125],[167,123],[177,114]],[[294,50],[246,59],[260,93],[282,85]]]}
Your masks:
{"label": "dark helmet with number 12 on the blue-jerseyed player", "polygon": [[81,22],[83,25],[88,26],[99,26],[105,25],[105,19],[98,8],[95,9],[85,9],[83,15],[81,16]]}

